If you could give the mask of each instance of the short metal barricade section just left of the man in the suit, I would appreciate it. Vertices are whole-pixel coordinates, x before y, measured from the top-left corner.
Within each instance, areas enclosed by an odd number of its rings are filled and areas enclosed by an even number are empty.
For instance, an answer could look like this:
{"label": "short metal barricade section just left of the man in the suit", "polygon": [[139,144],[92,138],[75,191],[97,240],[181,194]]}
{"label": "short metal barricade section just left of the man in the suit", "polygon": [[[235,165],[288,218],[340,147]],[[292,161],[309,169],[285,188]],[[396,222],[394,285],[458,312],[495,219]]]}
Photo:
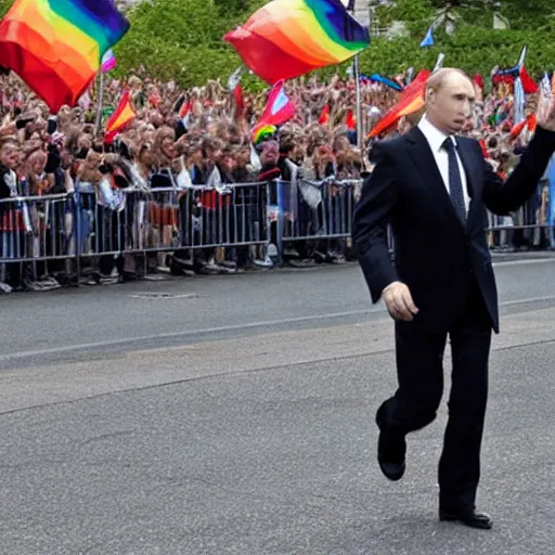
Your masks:
{"label": "short metal barricade section just left of the man in the suit", "polygon": [[293,243],[349,240],[361,180],[289,182],[276,180],[272,186],[269,220],[275,222],[280,254]]}

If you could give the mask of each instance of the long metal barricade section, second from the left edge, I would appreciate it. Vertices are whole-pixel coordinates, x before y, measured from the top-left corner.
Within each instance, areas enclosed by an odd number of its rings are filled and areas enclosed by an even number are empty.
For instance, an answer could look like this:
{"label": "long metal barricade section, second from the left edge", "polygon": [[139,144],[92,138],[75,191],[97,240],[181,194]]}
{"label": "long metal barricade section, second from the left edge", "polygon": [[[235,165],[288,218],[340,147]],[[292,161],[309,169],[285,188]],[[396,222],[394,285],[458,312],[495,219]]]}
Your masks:
{"label": "long metal barricade section, second from the left edge", "polygon": [[77,195],[79,257],[120,257],[268,243],[268,184],[121,191],[116,205]]}

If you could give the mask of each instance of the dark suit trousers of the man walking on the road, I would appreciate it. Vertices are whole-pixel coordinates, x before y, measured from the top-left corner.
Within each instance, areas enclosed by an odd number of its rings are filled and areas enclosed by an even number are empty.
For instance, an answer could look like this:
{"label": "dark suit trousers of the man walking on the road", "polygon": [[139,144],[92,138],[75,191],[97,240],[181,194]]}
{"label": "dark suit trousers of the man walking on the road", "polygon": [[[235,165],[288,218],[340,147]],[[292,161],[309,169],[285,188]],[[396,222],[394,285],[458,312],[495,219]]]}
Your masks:
{"label": "dark suit trousers of the man walking on the road", "polygon": [[443,393],[443,353],[452,351],[449,420],[439,463],[439,504],[443,509],[475,508],[480,447],[488,397],[491,320],[473,279],[462,314],[446,332],[414,322],[396,323],[399,388],[382,405],[383,429],[406,435],[430,424]]}

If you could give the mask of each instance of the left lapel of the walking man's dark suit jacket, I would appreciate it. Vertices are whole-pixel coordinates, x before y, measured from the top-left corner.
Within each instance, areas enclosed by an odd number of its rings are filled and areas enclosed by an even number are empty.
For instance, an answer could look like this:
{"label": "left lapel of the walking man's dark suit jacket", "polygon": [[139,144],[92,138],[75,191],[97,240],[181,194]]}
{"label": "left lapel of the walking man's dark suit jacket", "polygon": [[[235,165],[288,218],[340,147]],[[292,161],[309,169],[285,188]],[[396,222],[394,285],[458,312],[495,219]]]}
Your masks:
{"label": "left lapel of the walking man's dark suit jacket", "polygon": [[[426,184],[427,190],[438,199],[440,211],[449,222],[455,222],[462,231],[464,225],[456,214],[455,207],[451,202],[449,192],[443,183],[443,178],[439,171],[436,158],[424,133],[417,128],[413,128],[406,135],[411,144],[409,149],[414,167]],[[466,170],[466,167],[465,167]]]}

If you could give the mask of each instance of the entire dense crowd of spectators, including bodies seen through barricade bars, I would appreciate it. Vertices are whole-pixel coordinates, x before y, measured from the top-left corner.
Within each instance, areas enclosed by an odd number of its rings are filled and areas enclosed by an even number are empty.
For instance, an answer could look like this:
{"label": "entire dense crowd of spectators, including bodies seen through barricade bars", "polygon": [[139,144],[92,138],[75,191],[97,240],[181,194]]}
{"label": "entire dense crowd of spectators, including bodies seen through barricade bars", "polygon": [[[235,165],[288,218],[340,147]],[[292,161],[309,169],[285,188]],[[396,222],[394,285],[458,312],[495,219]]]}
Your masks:
{"label": "entire dense crowd of spectators, including bodies seen through barricade bars", "polygon": [[[533,128],[525,127],[513,135],[514,98],[506,83],[494,85],[491,92],[478,81],[474,87],[476,107],[463,133],[478,139],[488,152],[488,160],[500,173],[508,173],[529,143]],[[373,144],[354,144],[357,130],[347,125],[347,115],[350,112],[352,116],[354,108],[354,82],[339,75],[327,83],[313,77],[289,81],[286,92],[297,113],[259,144],[253,143],[250,133],[264,111],[267,92],[243,92],[238,106],[235,95],[219,81],[183,90],[175,81],[150,78],[143,69],[122,80],[107,77],[103,121],[115,109],[125,89],[130,91],[137,114],[111,143],[105,142],[104,130],[95,128],[95,106],[90,100],[75,107],[63,106],[54,115],[11,73],[0,76],[0,149],[7,145],[0,196],[40,197],[23,204],[23,209],[15,207],[14,202],[0,207],[2,214],[10,215],[4,216],[0,230],[0,278],[3,283],[8,280],[17,286],[48,288],[55,286],[56,281],[66,281],[67,264],[41,259],[62,251],[74,255],[77,246],[86,256],[85,266],[94,267],[92,271],[101,276],[102,283],[120,278],[117,255],[112,256],[112,261],[102,255],[100,266],[92,256],[101,254],[108,244],[114,251],[130,244],[150,249],[145,268],[151,271],[228,273],[235,266],[247,268],[253,261],[271,266],[279,258],[278,214],[282,214],[289,236],[314,236],[331,225],[341,230],[343,222],[350,218],[346,201],[358,201],[360,185],[349,189],[340,183],[359,180],[372,169],[369,154]],[[89,91],[89,98],[93,99],[93,91]],[[363,131],[370,131],[397,99],[398,92],[392,89],[363,81]],[[534,95],[528,96],[527,117],[534,113],[535,102]],[[422,113],[416,113],[404,117],[398,128],[380,139],[409,133],[421,116]],[[111,159],[112,155],[116,158]],[[125,188],[132,191],[125,194],[116,184],[113,169],[119,171],[120,158],[128,160],[134,176],[131,180],[142,183],[140,191]],[[111,169],[112,163],[115,167]],[[280,185],[276,180],[281,180]],[[307,185],[309,181],[323,180],[326,184],[321,190]],[[266,182],[268,186],[245,185],[253,181]],[[205,186],[203,191],[195,189],[201,185]],[[64,208],[60,214],[59,204],[51,203],[49,196],[66,192],[76,196],[61,203]],[[115,198],[120,201],[117,207]],[[550,195],[539,194],[539,206],[512,214],[506,220],[493,219],[492,223],[533,224],[540,219],[544,222],[541,215],[548,214],[548,199]],[[271,222],[269,245],[262,254],[246,246],[215,247],[233,243],[240,233],[246,243],[258,241],[267,225],[266,204],[270,206]],[[12,225],[15,221],[11,218],[17,214],[22,222],[24,216],[29,216],[30,231],[25,231],[23,223]],[[99,217],[112,223],[101,223]],[[118,233],[114,230],[116,224],[122,225]],[[21,234],[25,238],[23,245],[38,259],[37,263],[10,261],[16,254],[15,238]],[[519,247],[529,243],[522,233],[506,234],[506,240],[500,233],[491,234],[491,245],[506,245],[511,241]],[[347,243],[302,240],[286,242],[283,247],[280,254],[289,263],[335,263],[341,260]],[[156,249],[158,254],[153,254]],[[28,268],[33,268],[31,273]],[[16,280],[20,274],[22,280]],[[9,291],[9,286],[3,289]]]}

